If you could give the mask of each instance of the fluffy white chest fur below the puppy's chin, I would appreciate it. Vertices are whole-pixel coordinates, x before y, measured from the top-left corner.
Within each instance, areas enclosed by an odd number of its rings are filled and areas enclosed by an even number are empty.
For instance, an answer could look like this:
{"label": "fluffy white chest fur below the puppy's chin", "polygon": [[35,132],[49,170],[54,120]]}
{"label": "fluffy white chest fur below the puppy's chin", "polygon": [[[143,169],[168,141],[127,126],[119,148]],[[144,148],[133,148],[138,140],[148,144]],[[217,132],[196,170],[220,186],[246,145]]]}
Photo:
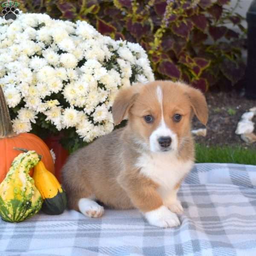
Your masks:
{"label": "fluffy white chest fur below the puppy's chin", "polygon": [[136,166],[141,168],[141,173],[159,184],[160,194],[172,191],[175,185],[192,168],[193,161],[178,160],[175,155],[170,154],[143,154],[138,158]]}

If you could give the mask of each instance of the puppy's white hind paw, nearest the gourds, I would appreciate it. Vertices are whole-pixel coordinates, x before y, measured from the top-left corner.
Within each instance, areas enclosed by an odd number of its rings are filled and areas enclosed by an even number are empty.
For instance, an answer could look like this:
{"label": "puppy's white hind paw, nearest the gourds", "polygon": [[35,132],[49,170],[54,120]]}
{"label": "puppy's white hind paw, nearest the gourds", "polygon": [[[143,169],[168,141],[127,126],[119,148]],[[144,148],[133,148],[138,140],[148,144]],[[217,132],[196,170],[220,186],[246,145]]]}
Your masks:
{"label": "puppy's white hind paw, nearest the gourds", "polygon": [[90,218],[99,218],[104,213],[104,208],[89,198],[81,198],[78,208],[82,214]]}

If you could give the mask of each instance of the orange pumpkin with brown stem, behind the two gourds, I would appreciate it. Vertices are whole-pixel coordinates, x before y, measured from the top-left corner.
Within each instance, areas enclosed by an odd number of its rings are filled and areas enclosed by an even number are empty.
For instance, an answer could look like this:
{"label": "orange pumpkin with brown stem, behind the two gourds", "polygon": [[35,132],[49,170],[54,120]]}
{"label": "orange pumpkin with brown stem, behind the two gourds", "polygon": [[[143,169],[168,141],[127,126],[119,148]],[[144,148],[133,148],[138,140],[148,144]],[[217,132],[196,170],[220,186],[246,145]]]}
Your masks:
{"label": "orange pumpkin with brown stem, behind the two gourds", "polygon": [[[35,134],[15,134],[13,131],[6,100],[0,86],[0,183],[6,177],[14,158],[20,154],[20,151],[15,150],[14,147],[35,150],[42,156],[46,169],[55,174],[52,156],[44,141]],[[33,170],[30,175],[33,175]]]}

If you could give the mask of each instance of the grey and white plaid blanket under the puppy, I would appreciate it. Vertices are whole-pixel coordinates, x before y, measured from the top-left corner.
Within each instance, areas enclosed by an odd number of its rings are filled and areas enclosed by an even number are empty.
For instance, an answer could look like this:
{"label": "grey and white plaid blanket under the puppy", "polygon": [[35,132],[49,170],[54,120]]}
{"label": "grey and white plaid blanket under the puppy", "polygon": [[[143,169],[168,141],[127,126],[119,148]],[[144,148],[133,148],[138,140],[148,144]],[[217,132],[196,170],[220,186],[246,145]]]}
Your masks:
{"label": "grey and white plaid blanket under the puppy", "polygon": [[196,164],[178,197],[185,212],[176,228],[151,226],[138,210],[0,221],[0,256],[256,255],[256,166]]}

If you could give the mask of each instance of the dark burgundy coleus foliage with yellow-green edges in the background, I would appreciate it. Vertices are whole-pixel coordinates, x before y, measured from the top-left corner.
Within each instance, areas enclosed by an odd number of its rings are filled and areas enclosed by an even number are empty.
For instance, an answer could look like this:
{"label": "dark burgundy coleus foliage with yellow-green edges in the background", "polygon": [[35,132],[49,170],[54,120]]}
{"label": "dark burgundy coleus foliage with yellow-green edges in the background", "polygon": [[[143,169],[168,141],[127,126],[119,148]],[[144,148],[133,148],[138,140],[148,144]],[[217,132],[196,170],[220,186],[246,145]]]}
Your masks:
{"label": "dark burgundy coleus foliage with yellow-green edges in the background", "polygon": [[183,80],[206,91],[244,75],[244,20],[230,0],[29,0],[21,9],[86,20],[114,39],[140,43],[157,79]]}

